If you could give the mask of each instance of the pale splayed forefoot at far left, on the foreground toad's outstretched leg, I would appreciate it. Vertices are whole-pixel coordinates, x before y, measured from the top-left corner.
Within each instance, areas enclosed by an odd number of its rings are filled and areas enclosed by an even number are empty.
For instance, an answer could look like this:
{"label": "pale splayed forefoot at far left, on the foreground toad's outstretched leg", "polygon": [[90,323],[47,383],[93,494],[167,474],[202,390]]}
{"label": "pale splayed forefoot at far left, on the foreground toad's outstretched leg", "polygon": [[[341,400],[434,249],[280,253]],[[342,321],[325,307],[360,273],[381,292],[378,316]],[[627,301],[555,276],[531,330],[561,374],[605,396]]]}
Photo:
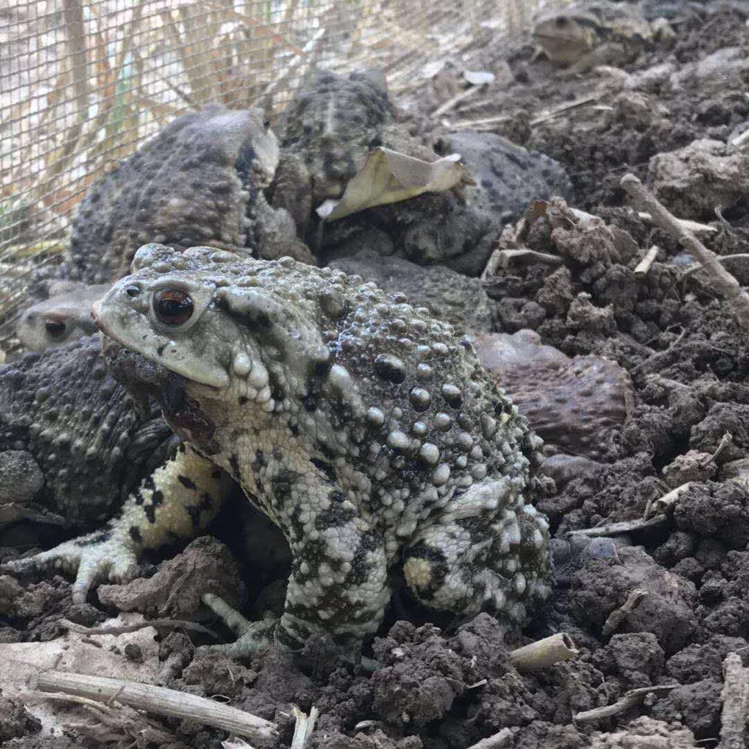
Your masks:
{"label": "pale splayed forefoot at far left, on the foreground toad's outstretched leg", "polygon": [[119,539],[112,539],[109,531],[100,531],[66,541],[33,557],[7,562],[0,571],[28,574],[54,568],[74,574],[73,603],[82,603],[88,591],[102,580],[112,583],[130,580],[135,574],[136,562],[132,548]]}

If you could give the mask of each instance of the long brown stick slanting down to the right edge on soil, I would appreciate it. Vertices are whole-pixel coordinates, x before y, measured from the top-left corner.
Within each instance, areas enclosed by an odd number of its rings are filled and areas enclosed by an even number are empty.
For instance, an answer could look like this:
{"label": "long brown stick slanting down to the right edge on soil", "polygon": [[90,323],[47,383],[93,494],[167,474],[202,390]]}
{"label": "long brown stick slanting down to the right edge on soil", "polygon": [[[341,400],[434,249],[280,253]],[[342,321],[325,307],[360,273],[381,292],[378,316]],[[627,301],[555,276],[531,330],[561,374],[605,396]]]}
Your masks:
{"label": "long brown stick slanting down to the right edge on soil", "polygon": [[749,294],[746,293],[739,285],[739,282],[721,265],[718,255],[707,249],[691,231],[685,229],[676,217],[664,207],[652,195],[648,189],[634,175],[624,175],[619,183],[622,189],[640,204],[640,207],[646,209],[652,216],[656,226],[666,231],[679,244],[684,247],[691,255],[694,255],[705,267],[706,273],[710,276],[712,285],[718,294],[721,294],[725,300],[733,307],[739,325],[744,330],[749,330]]}

